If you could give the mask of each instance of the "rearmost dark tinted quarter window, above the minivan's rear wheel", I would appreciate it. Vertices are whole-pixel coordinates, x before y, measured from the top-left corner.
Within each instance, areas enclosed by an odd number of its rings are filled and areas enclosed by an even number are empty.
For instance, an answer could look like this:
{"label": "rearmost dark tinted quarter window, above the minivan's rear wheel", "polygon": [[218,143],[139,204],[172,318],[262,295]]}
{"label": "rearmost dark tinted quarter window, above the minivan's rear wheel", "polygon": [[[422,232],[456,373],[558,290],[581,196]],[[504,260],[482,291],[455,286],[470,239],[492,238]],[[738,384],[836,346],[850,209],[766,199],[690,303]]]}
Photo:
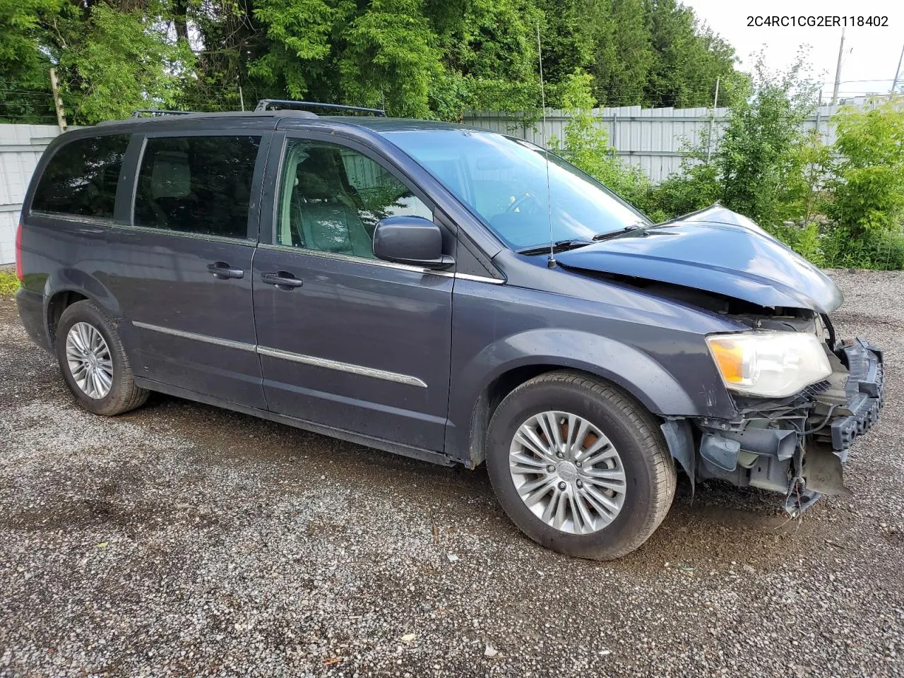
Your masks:
{"label": "rearmost dark tinted quarter window, above the minivan's rear wheel", "polygon": [[53,154],[34,192],[32,209],[113,218],[128,135],[88,137]]}

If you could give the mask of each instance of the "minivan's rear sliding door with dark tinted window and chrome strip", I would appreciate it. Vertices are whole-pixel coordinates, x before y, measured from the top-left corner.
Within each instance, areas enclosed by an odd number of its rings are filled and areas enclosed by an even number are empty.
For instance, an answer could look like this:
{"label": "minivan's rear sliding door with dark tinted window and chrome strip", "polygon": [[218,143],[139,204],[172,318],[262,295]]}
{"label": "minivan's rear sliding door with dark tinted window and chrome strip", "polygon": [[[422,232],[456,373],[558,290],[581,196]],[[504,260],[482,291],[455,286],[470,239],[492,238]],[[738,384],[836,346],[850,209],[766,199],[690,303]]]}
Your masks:
{"label": "minivan's rear sliding door with dark tinted window and chrome strip", "polygon": [[251,261],[266,138],[148,135],[103,276],[131,321],[137,376],[261,410]]}

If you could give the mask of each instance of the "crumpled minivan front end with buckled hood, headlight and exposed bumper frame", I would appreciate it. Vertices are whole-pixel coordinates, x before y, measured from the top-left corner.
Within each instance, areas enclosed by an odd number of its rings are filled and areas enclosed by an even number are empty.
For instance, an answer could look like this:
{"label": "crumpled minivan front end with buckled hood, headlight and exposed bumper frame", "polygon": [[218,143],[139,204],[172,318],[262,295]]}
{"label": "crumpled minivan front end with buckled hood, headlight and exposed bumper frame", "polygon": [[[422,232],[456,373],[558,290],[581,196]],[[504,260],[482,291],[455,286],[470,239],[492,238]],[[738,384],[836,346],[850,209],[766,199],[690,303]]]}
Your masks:
{"label": "crumpled minivan front end with buckled hood, headlight and exposed bumper frame", "polygon": [[665,417],[662,427],[692,484],[720,478],[781,492],[792,515],[847,492],[848,448],[882,407],[882,353],[836,339],[828,314],[843,296],[823,271],[718,204],[556,260],[737,328],[705,337],[734,418]]}

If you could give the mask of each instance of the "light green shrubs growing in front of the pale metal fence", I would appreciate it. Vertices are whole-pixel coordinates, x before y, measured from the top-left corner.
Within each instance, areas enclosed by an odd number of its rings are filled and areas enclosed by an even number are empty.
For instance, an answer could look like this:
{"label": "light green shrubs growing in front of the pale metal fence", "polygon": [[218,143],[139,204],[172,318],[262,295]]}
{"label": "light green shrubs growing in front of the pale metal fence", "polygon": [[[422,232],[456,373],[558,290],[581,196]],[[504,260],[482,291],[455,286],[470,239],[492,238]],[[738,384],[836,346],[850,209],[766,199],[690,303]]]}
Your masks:
{"label": "light green shrubs growing in front of the pale metal fence", "polygon": [[803,58],[783,73],[759,61],[723,132],[704,135],[681,173],[653,185],[595,126],[587,77],[573,74],[563,91],[572,118],[554,150],[654,220],[720,202],[819,266],[904,268],[904,101],[843,108],[825,146],[805,130],[816,100]]}

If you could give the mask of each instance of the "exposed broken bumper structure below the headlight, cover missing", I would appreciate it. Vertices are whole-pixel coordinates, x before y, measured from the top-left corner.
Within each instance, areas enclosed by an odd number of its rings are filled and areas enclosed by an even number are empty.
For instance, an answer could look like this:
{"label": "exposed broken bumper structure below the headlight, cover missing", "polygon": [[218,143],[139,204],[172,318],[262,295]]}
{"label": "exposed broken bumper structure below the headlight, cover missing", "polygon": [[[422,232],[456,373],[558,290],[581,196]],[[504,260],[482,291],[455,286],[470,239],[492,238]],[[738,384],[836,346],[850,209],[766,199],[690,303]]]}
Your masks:
{"label": "exposed broken bumper structure below the headlight, cover missing", "polygon": [[694,454],[673,446],[667,429],[678,429],[666,422],[663,429],[673,455],[692,480],[719,478],[785,494],[785,508],[792,516],[823,494],[850,494],[843,485],[842,465],[853,440],[879,419],[883,356],[858,338],[837,344],[830,358],[833,374],[793,398],[741,401],[738,419],[698,420]]}

